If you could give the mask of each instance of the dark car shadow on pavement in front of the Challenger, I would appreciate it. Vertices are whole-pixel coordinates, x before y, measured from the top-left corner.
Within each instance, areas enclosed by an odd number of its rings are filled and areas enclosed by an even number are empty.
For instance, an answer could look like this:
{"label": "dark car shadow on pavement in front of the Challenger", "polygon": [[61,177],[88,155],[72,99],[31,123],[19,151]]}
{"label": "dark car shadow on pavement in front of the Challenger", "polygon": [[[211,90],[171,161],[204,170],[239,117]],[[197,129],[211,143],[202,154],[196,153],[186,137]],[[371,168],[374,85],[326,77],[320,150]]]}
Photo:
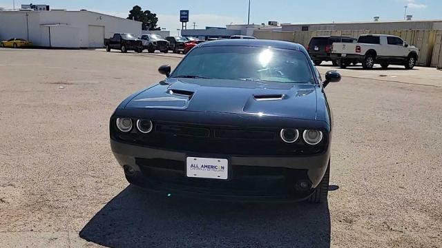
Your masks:
{"label": "dark car shadow on pavement in front of the Challenger", "polygon": [[227,203],[128,186],[79,236],[106,247],[329,247],[328,204]]}

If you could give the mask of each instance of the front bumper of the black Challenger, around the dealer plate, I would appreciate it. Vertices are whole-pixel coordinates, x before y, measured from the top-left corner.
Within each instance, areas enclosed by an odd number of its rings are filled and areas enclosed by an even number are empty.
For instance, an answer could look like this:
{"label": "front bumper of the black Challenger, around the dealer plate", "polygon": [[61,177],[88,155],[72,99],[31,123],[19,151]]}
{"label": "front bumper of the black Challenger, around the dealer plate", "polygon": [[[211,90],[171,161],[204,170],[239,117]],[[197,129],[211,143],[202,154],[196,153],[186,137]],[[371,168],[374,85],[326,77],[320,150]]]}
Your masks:
{"label": "front bumper of the black Challenger, around the dealer plate", "polygon": [[[126,179],[134,185],[165,194],[211,200],[304,200],[322,180],[329,149],[312,156],[227,156],[130,145],[111,139],[111,148]],[[188,178],[186,157],[227,158],[229,179]],[[298,183],[311,187],[301,189]]]}

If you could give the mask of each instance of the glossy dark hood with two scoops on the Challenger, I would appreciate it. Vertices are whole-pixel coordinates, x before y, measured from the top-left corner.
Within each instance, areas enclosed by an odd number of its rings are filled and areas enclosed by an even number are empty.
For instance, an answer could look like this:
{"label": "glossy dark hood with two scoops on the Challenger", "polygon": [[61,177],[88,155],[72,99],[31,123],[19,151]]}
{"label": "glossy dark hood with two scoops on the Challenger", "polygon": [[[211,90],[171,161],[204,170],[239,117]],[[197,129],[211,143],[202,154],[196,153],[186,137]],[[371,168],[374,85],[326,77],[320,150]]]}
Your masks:
{"label": "glossy dark hood with two scoops on the Challenger", "polygon": [[316,119],[316,85],[219,79],[166,79],[125,108],[155,108]]}

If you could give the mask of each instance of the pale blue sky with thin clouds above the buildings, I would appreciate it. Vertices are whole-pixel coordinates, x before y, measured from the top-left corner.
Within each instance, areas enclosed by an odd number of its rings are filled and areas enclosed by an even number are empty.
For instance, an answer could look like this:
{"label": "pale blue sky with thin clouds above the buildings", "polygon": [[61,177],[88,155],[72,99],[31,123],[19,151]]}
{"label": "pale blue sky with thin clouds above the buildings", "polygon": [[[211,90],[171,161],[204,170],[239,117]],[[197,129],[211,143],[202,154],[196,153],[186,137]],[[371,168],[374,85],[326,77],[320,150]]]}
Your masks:
{"label": "pale blue sky with thin clouds above the buildings", "polygon": [[[30,1],[15,1],[15,6]],[[48,4],[51,8],[67,10],[87,9],[118,17],[127,17],[135,5],[157,13],[159,25],[167,30],[180,28],[179,10],[190,10],[190,22],[197,28],[247,23],[248,0],[155,0],[155,1],[66,1],[39,0],[34,4]],[[105,3],[105,4],[103,4]],[[251,23],[329,23],[343,21],[381,21],[403,19],[404,6],[414,20],[442,19],[442,0],[251,0]],[[12,8],[11,1],[0,0],[0,7]],[[188,28],[192,25],[189,23]]]}

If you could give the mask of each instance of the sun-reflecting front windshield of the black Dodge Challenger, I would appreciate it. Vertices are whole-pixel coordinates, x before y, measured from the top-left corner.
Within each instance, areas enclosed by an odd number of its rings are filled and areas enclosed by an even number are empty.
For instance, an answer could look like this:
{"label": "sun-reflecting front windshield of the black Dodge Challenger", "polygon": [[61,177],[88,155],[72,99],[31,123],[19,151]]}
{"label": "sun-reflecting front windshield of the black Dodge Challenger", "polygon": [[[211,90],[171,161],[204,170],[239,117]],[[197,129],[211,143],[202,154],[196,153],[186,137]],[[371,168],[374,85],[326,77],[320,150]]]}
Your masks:
{"label": "sun-reflecting front windshield of the black Dodge Challenger", "polygon": [[189,53],[171,77],[313,83],[306,56],[294,50],[203,47]]}

